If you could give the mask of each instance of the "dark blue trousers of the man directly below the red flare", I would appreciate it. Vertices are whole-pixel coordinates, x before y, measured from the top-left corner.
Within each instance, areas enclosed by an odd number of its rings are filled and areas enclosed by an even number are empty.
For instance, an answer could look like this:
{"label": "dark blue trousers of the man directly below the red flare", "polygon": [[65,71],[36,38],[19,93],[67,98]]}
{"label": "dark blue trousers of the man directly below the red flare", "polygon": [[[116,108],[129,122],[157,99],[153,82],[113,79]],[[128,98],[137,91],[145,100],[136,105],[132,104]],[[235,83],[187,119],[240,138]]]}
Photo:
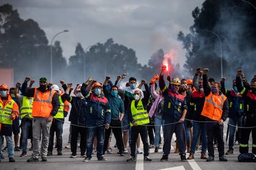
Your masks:
{"label": "dark blue trousers of the man directly below the red flare", "polygon": [[171,151],[171,139],[173,138],[174,132],[177,137],[177,142],[179,143],[179,155],[186,155],[186,131],[185,131],[184,123],[176,123],[176,124],[169,124],[169,123],[173,123],[173,122],[164,120],[164,124],[168,124],[168,125],[165,125],[163,129],[164,155],[168,156]]}

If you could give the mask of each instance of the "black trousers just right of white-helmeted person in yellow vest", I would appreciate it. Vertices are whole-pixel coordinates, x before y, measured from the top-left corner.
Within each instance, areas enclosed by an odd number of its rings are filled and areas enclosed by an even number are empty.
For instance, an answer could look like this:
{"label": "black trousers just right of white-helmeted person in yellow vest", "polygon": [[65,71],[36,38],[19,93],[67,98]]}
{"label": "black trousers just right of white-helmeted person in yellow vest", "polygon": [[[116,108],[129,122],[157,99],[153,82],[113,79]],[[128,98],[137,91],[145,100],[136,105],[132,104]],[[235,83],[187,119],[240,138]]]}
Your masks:
{"label": "black trousers just right of white-helmeted person in yellow vest", "polygon": [[87,128],[72,125],[71,127],[71,152],[77,155],[77,137],[81,136],[80,139],[80,151],[81,156],[85,155],[86,142],[87,142]]}

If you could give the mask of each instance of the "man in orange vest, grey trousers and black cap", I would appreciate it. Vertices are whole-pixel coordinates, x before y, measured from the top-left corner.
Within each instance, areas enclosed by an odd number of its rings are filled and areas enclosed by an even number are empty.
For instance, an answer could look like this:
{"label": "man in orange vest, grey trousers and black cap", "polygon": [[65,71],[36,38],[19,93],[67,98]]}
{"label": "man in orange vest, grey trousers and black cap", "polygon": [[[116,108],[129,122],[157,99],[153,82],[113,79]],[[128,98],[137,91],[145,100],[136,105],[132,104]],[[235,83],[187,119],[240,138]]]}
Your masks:
{"label": "man in orange vest, grey trousers and black cap", "polygon": [[58,113],[60,107],[59,95],[51,88],[47,87],[48,82],[46,78],[39,79],[40,87],[38,88],[28,89],[28,81],[30,81],[30,78],[25,78],[21,90],[25,96],[33,97],[33,154],[27,161],[38,161],[41,136],[41,158],[42,161],[47,161],[46,156],[49,145],[49,129],[51,127],[51,122],[53,121],[53,116]]}

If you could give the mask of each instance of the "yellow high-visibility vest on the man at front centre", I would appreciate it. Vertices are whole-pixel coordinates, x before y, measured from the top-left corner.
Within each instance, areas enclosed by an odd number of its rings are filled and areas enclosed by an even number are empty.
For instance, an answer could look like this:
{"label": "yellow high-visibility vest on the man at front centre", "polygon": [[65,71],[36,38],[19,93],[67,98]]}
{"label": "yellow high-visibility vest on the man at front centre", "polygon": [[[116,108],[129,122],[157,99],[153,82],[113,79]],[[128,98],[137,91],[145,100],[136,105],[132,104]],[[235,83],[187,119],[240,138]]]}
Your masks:
{"label": "yellow high-visibility vest on the man at front centre", "polygon": [[[132,118],[137,122],[138,125],[150,123],[148,112],[144,109],[142,100],[139,100],[137,108],[135,107],[135,100],[132,100],[132,103],[130,104],[130,111],[132,112]],[[130,126],[133,126],[133,124],[130,123]]]}

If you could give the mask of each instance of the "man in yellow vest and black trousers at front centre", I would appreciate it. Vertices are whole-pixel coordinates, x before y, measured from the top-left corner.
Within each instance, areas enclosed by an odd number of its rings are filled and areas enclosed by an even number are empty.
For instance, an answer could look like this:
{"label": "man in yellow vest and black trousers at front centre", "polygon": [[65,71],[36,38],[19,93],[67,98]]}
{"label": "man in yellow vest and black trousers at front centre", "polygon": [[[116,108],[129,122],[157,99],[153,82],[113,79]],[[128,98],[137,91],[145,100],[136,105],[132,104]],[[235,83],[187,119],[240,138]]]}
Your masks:
{"label": "man in yellow vest and black trousers at front centre", "polygon": [[144,161],[151,161],[151,159],[148,157],[149,155],[149,146],[148,146],[148,130],[147,130],[147,124],[150,123],[150,120],[148,118],[148,112],[147,112],[147,104],[150,99],[150,90],[146,83],[146,81],[143,81],[143,84],[145,86],[145,94],[142,99],[142,90],[137,89],[134,92],[134,99],[132,100],[128,107],[127,107],[127,115],[130,120],[130,158],[127,160],[129,161],[136,161],[135,158],[135,150],[136,150],[136,141],[140,134],[140,137],[143,142],[143,155],[144,155]]}

